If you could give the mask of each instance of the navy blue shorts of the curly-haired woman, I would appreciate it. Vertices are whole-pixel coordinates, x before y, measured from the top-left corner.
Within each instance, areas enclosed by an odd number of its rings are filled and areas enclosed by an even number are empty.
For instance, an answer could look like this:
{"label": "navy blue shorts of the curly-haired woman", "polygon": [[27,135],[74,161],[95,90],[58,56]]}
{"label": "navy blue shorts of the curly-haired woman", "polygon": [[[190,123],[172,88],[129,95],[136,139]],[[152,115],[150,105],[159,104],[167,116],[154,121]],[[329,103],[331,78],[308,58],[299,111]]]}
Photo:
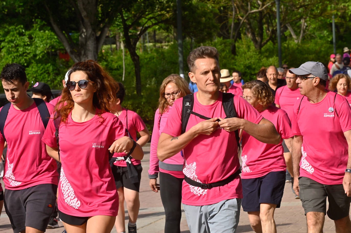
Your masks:
{"label": "navy blue shorts of the curly-haired woman", "polygon": [[261,203],[280,207],[285,186],[285,171],[272,171],[258,178],[241,179],[241,183],[243,185],[241,206],[245,212],[260,211]]}

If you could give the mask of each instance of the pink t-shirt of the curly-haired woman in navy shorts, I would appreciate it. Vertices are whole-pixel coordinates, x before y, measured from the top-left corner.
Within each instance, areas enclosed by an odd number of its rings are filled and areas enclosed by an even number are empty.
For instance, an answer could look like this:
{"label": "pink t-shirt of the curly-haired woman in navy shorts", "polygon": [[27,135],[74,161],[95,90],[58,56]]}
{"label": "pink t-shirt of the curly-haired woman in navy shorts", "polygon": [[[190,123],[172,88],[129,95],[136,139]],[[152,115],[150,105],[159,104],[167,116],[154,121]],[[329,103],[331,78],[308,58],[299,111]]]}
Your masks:
{"label": "pink t-shirt of the curly-haired woman in navy shorts", "polygon": [[283,139],[294,136],[291,132],[289,117],[284,110],[276,106],[270,106],[260,114],[273,123],[281,139],[278,145],[267,144],[243,132],[242,179],[258,178],[271,171],[285,171],[286,168],[282,142]]}

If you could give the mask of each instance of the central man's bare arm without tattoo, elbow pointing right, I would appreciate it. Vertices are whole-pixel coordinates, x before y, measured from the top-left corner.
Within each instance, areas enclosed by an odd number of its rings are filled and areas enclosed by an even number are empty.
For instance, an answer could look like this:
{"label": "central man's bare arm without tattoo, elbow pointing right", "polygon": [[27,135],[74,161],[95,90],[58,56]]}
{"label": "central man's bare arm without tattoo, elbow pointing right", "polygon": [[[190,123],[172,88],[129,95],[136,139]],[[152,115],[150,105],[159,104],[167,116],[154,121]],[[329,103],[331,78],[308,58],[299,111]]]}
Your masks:
{"label": "central man's bare arm without tattoo, elbow pointing right", "polygon": [[260,142],[269,144],[278,144],[280,142],[280,135],[276,127],[265,118],[260,120],[258,124],[236,117],[226,119],[219,118],[219,120],[219,126],[228,132],[243,129]]}

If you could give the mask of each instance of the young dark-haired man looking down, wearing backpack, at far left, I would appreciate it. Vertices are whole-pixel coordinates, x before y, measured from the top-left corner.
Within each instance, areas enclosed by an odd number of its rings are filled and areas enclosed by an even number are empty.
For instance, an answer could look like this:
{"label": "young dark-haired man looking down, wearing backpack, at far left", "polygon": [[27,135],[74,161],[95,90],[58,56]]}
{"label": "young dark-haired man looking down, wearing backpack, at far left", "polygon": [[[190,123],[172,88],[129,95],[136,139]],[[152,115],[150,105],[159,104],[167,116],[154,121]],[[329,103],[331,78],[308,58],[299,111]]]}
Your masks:
{"label": "young dark-haired man looking down, wearing backpack, at far left", "polygon": [[0,78],[10,102],[0,110],[0,152],[7,142],[5,210],[13,232],[45,232],[56,202],[58,174],[41,138],[54,107],[27,95],[23,66],[5,65]]}

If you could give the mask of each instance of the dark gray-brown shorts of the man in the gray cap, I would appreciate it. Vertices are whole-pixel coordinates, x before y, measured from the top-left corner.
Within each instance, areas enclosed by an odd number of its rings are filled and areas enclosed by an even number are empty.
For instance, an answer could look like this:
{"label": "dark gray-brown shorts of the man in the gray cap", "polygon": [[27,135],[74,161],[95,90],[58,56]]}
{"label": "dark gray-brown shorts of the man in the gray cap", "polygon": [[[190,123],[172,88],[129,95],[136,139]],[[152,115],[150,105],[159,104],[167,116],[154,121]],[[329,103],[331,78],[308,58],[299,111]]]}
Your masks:
{"label": "dark gray-brown shorts of the man in the gray cap", "polygon": [[[322,212],[332,220],[349,215],[351,197],[347,197],[342,184],[326,185],[307,177],[299,177],[299,196],[305,215],[308,212]],[[329,208],[326,211],[326,198]]]}

